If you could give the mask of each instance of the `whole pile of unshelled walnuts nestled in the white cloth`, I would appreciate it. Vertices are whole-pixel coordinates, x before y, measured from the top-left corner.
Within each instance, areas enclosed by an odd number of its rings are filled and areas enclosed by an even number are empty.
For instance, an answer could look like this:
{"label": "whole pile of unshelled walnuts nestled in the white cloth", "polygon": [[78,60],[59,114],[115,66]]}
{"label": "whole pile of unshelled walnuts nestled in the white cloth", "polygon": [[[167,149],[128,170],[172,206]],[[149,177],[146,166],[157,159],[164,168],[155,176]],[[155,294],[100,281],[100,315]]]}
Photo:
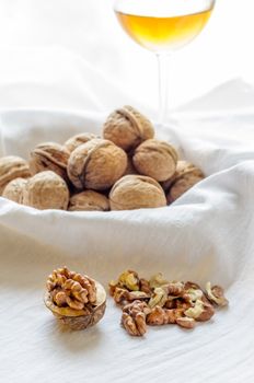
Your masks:
{"label": "whole pile of unshelled walnuts nestled in the white cloth", "polygon": [[204,178],[169,142],[155,139],[152,124],[131,106],[113,112],[102,136],[39,143],[28,161],[0,159],[0,196],[36,209],[157,208]]}

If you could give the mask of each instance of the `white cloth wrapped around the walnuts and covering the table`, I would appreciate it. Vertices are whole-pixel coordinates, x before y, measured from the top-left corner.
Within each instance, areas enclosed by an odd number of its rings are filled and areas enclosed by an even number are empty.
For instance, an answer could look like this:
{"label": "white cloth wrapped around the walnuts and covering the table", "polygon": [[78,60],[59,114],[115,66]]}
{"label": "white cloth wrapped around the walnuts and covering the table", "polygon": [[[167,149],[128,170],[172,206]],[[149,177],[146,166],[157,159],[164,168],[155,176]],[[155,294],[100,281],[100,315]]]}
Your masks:
{"label": "white cloth wrapped around the walnuts and covering the table", "polygon": [[[159,132],[207,175],[170,207],[70,213],[0,198],[2,381],[253,382],[253,92],[241,81],[226,84],[193,104],[195,116],[185,106]],[[42,140],[97,132],[105,115],[2,112],[1,155],[26,158]],[[230,306],[193,332],[150,327],[137,339],[120,328],[120,310],[108,298],[97,326],[62,333],[43,304],[46,277],[61,265],[105,286],[126,268],[145,277],[163,271],[171,279],[210,280],[226,288]]]}

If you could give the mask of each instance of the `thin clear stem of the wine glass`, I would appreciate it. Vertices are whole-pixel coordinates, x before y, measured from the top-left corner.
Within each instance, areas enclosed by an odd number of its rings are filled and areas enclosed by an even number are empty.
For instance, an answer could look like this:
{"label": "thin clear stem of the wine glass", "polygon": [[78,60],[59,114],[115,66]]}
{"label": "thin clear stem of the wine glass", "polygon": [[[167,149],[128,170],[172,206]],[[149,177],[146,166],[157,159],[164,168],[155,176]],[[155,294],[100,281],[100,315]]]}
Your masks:
{"label": "thin clear stem of the wine glass", "polygon": [[159,74],[159,126],[163,127],[169,114],[169,54],[157,54],[158,74]]}

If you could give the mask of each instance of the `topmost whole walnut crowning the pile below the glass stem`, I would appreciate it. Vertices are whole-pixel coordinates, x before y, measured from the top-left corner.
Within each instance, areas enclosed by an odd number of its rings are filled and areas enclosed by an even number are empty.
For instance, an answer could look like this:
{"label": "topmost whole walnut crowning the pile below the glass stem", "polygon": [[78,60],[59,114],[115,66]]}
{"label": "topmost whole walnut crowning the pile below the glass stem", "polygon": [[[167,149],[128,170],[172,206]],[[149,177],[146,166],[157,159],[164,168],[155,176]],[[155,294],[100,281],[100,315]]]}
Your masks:
{"label": "topmost whole walnut crowning the pile below the glass stem", "polygon": [[103,128],[103,137],[127,152],[153,136],[152,124],[131,106],[124,106],[113,112]]}

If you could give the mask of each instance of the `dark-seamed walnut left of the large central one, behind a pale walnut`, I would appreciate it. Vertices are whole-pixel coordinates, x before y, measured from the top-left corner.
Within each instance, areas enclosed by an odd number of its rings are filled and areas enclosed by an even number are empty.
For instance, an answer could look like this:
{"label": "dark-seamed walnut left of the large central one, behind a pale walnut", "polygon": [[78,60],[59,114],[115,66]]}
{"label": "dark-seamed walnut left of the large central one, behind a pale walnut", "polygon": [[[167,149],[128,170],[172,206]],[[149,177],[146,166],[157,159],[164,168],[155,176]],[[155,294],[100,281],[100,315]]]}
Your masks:
{"label": "dark-seamed walnut left of the large central one, behind a pale walnut", "polygon": [[67,163],[69,151],[57,142],[43,142],[31,152],[30,170],[32,175],[44,171],[53,171],[65,181],[67,176]]}

